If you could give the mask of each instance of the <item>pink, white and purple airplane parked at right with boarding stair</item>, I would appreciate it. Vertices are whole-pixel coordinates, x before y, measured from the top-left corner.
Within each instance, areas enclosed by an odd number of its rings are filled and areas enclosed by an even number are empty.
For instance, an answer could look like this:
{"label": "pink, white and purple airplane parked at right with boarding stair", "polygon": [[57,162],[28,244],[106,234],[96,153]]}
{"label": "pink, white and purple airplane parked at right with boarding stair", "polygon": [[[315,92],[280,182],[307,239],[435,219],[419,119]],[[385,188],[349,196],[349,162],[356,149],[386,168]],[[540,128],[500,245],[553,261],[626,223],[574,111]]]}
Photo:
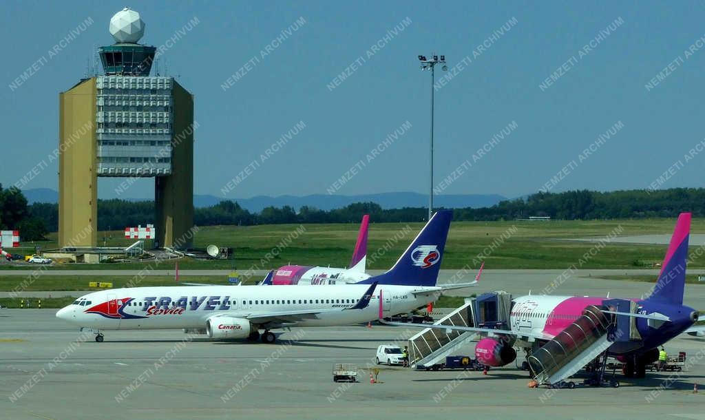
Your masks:
{"label": "pink, white and purple airplane parked at right with boarding stair", "polygon": [[624,362],[627,377],[644,377],[646,364],[658,359],[658,346],[681,333],[701,335],[704,328],[693,326],[698,311],[683,305],[690,221],[689,213],[678,217],[656,286],[646,299],[527,295],[511,302],[509,329],[422,327],[484,336],[475,356],[486,366],[513,362],[513,347],[521,347],[529,355],[525,369],[540,383],[560,383],[599,354]]}

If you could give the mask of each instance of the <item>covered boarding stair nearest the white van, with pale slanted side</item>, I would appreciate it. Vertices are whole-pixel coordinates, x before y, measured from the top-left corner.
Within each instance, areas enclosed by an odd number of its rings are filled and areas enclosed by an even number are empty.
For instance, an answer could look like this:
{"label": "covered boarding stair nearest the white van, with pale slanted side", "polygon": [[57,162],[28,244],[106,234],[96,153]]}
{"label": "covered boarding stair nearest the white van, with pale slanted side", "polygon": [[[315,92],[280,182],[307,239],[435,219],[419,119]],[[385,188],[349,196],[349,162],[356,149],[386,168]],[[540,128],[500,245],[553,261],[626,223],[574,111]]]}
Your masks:
{"label": "covered boarding stair nearest the white van, with pale slanted side", "polygon": [[[434,325],[480,328],[506,328],[512,296],[507,292],[489,292],[465,299],[458,309],[443,316]],[[419,370],[439,369],[451,352],[455,352],[477,334],[426,328],[409,339],[409,365]]]}

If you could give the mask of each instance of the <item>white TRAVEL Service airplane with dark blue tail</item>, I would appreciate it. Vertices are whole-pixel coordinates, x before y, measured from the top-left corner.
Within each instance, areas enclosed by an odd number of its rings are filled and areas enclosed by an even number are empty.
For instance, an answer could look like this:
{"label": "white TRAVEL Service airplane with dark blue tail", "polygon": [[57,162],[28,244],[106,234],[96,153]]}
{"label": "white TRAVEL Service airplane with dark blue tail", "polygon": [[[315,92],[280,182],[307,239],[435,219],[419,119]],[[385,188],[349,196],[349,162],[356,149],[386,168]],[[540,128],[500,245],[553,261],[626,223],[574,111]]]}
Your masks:
{"label": "white TRAVEL Service airplane with dark blue tail", "polygon": [[[396,264],[360,285],[170,286],[122,288],[90,293],[56,312],[60,319],[96,333],[106,330],[204,330],[209,338],[274,342],[271,330],[291,326],[338,326],[374,321],[434,302],[444,290],[474,283],[437,286],[453,214],[439,211]],[[421,258],[421,254],[432,259]],[[370,300],[379,304],[369,305]]]}

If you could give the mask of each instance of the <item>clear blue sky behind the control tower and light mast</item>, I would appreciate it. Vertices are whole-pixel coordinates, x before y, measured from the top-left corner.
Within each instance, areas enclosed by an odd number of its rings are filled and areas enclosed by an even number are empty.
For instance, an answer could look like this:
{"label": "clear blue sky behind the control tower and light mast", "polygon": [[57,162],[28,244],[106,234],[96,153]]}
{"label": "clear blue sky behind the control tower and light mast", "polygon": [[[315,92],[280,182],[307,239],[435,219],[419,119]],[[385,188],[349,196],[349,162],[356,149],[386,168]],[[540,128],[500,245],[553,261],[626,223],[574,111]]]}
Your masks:
{"label": "clear blue sky behind the control tower and light mast", "polygon": [[[11,58],[0,70],[1,183],[16,183],[56,148],[59,92],[82,77],[92,49],[113,42],[109,19],[123,6],[4,5],[0,27]],[[705,153],[696,150],[687,162],[684,154],[705,137],[702,3],[129,6],[147,23],[142,43],[159,46],[178,30],[183,33],[164,51],[159,67],[195,95],[198,194],[223,196],[223,187],[252,161],[257,167],[226,188],[224,197],[325,194],[336,181],[336,194],[427,192],[431,76],[419,70],[417,55],[432,51],[446,56],[451,68],[446,75],[452,75],[435,93],[436,185],[450,177],[443,194],[516,197],[537,192],[551,178],[558,181],[552,191],[701,186]],[[11,87],[87,18],[92,25]],[[194,18],[197,24],[184,32]],[[510,29],[502,31],[503,25]],[[290,35],[282,37],[282,31]],[[255,56],[259,61],[252,61]],[[463,63],[468,56],[471,61]],[[658,85],[646,87],[659,73]],[[437,68],[436,78],[441,76]],[[263,160],[300,122],[305,128]],[[410,128],[400,130],[407,122]],[[510,123],[516,125],[510,135],[491,142]],[[621,128],[605,140],[615,123]],[[379,147],[395,130],[403,135]],[[482,147],[489,152],[478,159]],[[590,147],[589,156],[580,158]],[[373,149],[379,153],[369,159]],[[353,169],[361,160],[364,166]],[[472,166],[463,167],[466,161]],[[56,161],[47,162],[25,188],[56,188],[57,169]],[[111,197],[116,185],[102,178],[99,195]],[[142,180],[125,196],[151,198],[152,185]]]}

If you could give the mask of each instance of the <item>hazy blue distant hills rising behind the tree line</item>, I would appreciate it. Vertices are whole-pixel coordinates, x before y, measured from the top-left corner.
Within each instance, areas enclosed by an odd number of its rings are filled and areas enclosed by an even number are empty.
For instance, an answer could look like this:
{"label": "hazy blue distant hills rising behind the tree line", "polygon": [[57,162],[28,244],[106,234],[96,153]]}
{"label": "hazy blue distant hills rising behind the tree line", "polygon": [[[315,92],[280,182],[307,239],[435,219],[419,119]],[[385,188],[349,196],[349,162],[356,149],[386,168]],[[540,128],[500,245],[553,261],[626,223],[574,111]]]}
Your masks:
{"label": "hazy blue distant hills rising behind the tree line", "polygon": [[[35,202],[56,203],[59,200],[59,193],[51,188],[34,188],[23,190],[27,201],[30,204]],[[315,207],[321,210],[340,209],[348,204],[357,202],[374,202],[382,209],[401,209],[403,207],[425,207],[429,204],[429,196],[417,192],[383,192],[381,194],[362,195],[329,195],[312,194],[302,197],[294,195],[280,195],[278,197],[257,196],[252,198],[226,198],[233,202],[238,202],[243,209],[248,211],[261,211],[267,206],[292,206],[300,209],[301,206]],[[446,207],[448,209],[460,209],[465,207],[489,207],[498,204],[506,199],[498,194],[448,194],[437,195],[434,198],[434,206]],[[130,201],[142,201],[142,199],[128,199]],[[222,197],[206,194],[194,194],[193,205],[196,207],[207,207],[223,201]]]}

